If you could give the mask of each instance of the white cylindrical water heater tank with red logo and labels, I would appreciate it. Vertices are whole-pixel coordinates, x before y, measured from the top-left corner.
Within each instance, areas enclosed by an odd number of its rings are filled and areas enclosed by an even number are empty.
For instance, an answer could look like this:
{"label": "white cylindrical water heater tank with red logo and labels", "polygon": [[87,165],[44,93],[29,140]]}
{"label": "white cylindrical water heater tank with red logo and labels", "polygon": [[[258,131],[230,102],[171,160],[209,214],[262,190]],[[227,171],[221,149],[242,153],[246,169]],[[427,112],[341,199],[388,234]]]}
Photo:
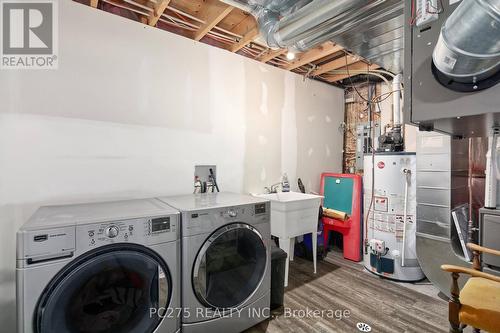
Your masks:
{"label": "white cylindrical water heater tank with red logo and labels", "polygon": [[415,153],[377,153],[374,159],[365,156],[363,184],[364,212],[368,214],[365,267],[394,280],[423,279],[415,248]]}

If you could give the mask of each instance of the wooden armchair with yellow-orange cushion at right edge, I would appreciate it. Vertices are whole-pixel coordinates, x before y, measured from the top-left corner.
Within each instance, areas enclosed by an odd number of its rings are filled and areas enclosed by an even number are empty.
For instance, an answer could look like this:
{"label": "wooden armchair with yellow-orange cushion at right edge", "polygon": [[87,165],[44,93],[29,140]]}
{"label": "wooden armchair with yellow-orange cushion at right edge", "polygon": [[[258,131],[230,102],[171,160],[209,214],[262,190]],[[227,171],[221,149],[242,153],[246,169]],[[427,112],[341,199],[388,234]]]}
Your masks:
{"label": "wooden armchair with yellow-orange cushion at right edge", "polygon": [[[500,256],[500,251],[468,243],[472,250],[472,268],[442,265],[441,269],[451,273],[451,299],[449,301],[450,333],[462,333],[467,326],[474,332],[485,330],[500,333],[500,277],[481,271],[481,253]],[[471,278],[460,290],[460,274]]]}

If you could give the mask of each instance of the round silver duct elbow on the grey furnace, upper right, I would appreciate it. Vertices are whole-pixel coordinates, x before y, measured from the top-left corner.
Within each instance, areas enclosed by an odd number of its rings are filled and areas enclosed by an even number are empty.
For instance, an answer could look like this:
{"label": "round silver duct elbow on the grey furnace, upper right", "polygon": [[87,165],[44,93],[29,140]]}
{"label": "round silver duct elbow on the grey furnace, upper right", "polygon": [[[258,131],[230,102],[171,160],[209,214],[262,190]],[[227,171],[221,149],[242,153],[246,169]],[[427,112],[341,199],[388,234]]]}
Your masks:
{"label": "round silver duct elbow on the grey furnace, upper right", "polygon": [[432,59],[436,78],[451,89],[453,82],[461,91],[468,91],[466,85],[474,91],[498,82],[478,84],[500,69],[500,0],[462,1],[441,28]]}

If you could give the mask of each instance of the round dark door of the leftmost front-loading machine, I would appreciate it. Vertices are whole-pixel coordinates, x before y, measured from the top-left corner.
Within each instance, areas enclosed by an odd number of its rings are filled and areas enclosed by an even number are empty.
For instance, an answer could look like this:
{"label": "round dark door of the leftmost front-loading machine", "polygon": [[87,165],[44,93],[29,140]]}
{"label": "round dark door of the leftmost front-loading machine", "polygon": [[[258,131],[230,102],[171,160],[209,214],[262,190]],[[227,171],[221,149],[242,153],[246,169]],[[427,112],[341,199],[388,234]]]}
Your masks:
{"label": "round dark door of the leftmost front-loading machine", "polygon": [[114,244],[90,251],[59,272],[35,312],[37,333],[153,332],[166,308],[171,278],[164,260],[146,247]]}

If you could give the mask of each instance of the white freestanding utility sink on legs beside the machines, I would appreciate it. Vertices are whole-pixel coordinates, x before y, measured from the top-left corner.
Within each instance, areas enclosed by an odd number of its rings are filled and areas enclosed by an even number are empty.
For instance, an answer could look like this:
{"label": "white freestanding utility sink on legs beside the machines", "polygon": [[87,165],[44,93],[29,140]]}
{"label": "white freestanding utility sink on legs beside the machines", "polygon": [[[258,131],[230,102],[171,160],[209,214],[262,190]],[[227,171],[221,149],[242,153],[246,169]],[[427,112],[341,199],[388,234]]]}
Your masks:
{"label": "white freestanding utility sink on legs beside the machines", "polygon": [[257,196],[271,201],[271,235],[279,238],[280,248],[288,254],[285,287],[288,285],[288,265],[289,260],[293,260],[297,236],[312,234],[314,273],[316,273],[318,211],[323,197],[299,192],[279,192]]}

